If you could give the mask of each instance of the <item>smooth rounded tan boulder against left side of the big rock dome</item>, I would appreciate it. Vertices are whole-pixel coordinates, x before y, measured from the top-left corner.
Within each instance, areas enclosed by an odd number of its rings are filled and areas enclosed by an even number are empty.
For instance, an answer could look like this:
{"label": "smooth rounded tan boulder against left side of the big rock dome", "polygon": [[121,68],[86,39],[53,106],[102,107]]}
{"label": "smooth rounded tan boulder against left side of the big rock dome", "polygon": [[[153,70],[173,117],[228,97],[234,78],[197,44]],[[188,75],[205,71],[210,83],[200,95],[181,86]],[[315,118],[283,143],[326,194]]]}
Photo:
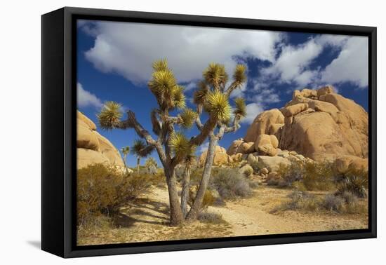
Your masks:
{"label": "smooth rounded tan boulder against left side of the big rock dome", "polygon": [[279,109],[260,113],[249,126],[245,142],[256,142],[259,135],[274,135],[284,125],[284,116]]}

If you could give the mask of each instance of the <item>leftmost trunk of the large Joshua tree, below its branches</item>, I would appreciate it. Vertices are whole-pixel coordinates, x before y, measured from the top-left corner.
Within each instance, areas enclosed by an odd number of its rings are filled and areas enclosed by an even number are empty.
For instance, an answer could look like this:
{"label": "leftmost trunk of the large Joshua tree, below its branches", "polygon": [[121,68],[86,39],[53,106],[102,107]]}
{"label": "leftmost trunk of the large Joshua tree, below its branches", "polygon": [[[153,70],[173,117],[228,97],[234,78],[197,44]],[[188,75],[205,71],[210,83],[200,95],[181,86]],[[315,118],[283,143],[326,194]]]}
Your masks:
{"label": "leftmost trunk of the large Joshua tree, below its branches", "polygon": [[178,200],[177,179],[175,178],[174,168],[164,168],[166,175],[166,184],[168,184],[169,205],[171,212],[171,225],[178,226],[184,220]]}

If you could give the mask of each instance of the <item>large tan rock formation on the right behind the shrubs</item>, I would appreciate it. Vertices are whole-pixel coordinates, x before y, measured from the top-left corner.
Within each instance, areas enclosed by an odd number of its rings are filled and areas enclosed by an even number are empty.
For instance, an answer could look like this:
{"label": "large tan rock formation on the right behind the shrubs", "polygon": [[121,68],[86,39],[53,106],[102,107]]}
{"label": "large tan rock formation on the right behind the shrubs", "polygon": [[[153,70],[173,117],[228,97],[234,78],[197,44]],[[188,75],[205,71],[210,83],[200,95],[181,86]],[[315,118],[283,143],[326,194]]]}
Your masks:
{"label": "large tan rock formation on the right behind the shrubs", "polygon": [[[295,90],[282,109],[259,114],[244,140],[234,141],[227,154],[251,153],[241,149],[249,142],[255,142],[255,151],[269,156],[288,150],[316,161],[367,158],[368,114],[359,104],[335,93],[332,86]],[[271,146],[279,149],[274,151]]]}

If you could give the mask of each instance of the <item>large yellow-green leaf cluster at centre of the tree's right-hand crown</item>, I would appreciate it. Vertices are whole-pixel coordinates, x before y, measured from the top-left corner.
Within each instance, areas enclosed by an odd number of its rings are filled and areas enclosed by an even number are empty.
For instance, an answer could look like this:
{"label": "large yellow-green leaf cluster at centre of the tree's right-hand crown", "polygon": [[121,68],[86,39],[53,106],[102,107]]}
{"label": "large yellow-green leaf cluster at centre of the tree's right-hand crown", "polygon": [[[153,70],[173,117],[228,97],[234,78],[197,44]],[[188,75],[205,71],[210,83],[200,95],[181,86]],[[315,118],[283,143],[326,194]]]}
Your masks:
{"label": "large yellow-green leaf cluster at centre of the tree's right-hand crown", "polygon": [[204,108],[218,121],[229,121],[232,112],[227,95],[218,91],[208,93]]}

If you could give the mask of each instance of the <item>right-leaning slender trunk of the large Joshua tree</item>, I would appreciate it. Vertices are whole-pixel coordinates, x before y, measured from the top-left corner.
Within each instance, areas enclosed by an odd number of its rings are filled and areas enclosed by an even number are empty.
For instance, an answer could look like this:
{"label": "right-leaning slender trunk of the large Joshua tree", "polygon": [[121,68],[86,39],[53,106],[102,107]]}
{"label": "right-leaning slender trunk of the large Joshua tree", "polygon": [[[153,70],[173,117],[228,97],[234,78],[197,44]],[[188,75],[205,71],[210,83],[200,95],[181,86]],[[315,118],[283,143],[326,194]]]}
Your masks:
{"label": "right-leaning slender trunk of the large Joshua tree", "polygon": [[208,186],[209,179],[211,178],[213,159],[215,157],[215,146],[217,143],[218,137],[215,137],[215,135],[212,134],[209,137],[209,146],[208,151],[206,152],[204,172],[202,174],[199,190],[197,191],[196,198],[194,198],[192,208],[190,208],[190,211],[187,214],[187,220],[189,221],[197,219],[197,216],[199,215],[199,210],[201,208],[202,201],[204,200],[206,188]]}

